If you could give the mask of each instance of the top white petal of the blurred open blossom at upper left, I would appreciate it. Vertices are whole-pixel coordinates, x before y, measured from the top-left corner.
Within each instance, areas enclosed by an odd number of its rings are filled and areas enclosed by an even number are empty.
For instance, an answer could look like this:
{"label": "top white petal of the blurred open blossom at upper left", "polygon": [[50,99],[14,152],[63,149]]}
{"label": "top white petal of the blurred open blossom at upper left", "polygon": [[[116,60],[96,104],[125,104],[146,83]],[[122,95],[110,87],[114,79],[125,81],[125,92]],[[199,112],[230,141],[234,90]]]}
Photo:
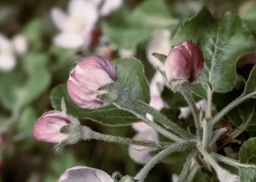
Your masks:
{"label": "top white petal of the blurred open blossom at upper left", "polygon": [[94,25],[99,18],[97,7],[86,0],[71,0],[68,13],[73,18],[81,17],[86,25]]}

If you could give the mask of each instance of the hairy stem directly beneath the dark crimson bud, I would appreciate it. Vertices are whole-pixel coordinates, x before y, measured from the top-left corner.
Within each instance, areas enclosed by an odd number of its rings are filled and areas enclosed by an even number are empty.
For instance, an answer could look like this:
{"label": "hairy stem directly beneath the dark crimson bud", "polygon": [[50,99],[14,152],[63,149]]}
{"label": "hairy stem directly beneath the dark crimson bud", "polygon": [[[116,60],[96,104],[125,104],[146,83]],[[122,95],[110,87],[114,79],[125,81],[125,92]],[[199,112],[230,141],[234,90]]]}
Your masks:
{"label": "hairy stem directly beneath the dark crimson bud", "polygon": [[191,94],[191,91],[189,88],[184,88],[181,91],[181,94],[183,95],[183,97],[185,98],[186,102],[188,103],[189,107],[191,108],[193,117],[194,117],[194,121],[195,121],[195,127],[196,127],[196,131],[197,131],[197,135],[200,139],[202,139],[203,137],[203,128],[200,122],[200,115],[199,115],[199,111],[195,105],[195,100],[193,99],[193,96]]}

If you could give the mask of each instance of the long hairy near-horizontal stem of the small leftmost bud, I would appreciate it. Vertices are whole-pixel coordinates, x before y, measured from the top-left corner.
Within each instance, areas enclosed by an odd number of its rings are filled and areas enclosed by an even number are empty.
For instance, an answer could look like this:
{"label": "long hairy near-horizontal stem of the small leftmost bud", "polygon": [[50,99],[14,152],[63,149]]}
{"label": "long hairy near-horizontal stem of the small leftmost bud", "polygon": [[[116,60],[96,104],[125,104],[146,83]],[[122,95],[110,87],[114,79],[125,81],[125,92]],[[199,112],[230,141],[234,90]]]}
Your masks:
{"label": "long hairy near-horizontal stem of the small leftmost bud", "polygon": [[166,148],[172,145],[172,143],[170,142],[145,141],[145,140],[138,140],[138,139],[116,137],[116,136],[107,135],[107,134],[100,134],[95,131],[90,131],[90,138],[103,140],[106,142],[116,142],[116,143],[122,143],[122,144],[128,144],[128,145],[133,144],[133,145],[140,145],[140,146],[151,147],[151,148]]}

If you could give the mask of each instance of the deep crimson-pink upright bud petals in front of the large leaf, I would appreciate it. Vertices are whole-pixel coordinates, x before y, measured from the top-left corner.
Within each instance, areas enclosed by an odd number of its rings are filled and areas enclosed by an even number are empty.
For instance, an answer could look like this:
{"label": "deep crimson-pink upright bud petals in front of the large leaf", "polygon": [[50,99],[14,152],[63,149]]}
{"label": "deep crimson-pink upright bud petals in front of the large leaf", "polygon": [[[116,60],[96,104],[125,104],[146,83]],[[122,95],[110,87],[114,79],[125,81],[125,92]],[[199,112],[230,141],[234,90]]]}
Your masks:
{"label": "deep crimson-pink upright bud petals in front of the large leaf", "polygon": [[193,81],[203,69],[204,57],[201,49],[189,40],[175,46],[168,54],[165,71],[169,81]]}

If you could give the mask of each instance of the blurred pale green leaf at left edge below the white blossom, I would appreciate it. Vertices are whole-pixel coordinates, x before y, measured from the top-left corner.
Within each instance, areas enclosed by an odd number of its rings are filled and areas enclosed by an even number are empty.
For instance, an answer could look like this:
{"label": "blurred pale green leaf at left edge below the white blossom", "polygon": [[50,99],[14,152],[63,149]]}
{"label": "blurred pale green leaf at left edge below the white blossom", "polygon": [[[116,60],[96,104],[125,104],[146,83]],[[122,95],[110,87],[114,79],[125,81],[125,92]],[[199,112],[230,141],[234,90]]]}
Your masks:
{"label": "blurred pale green leaf at left edge below the white blossom", "polygon": [[0,77],[0,100],[10,110],[35,100],[50,82],[50,73],[46,68],[47,56],[44,54],[26,54],[21,63],[23,71],[16,69]]}

